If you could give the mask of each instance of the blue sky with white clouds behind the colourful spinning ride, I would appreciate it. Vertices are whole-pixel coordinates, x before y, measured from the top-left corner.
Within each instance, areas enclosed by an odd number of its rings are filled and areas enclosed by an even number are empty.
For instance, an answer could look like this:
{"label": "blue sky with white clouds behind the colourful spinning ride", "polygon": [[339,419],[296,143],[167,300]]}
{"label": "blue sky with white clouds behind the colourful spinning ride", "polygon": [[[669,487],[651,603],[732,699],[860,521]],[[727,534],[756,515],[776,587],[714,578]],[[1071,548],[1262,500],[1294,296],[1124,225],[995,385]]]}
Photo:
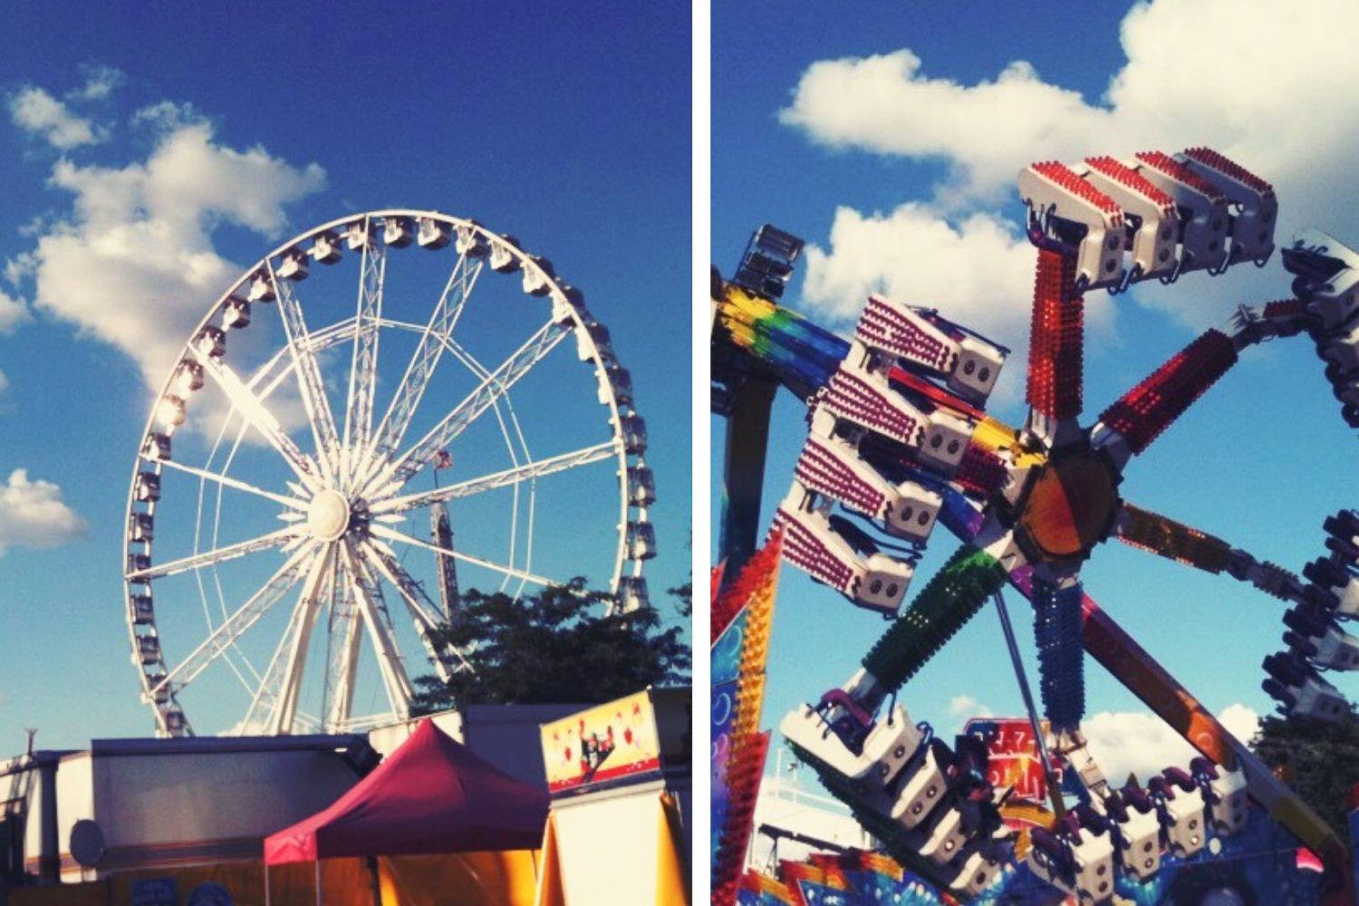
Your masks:
{"label": "blue sky with white clouds behind the colourful spinning ride", "polygon": [[[771,221],[809,254],[784,302],[847,330],[870,289],[988,331],[1017,349],[991,410],[1023,417],[1022,378],[1033,251],[1018,224],[1014,174],[1031,160],[1076,160],[1208,144],[1275,182],[1280,239],[1311,224],[1359,242],[1347,204],[1344,136],[1359,134],[1352,98],[1317,53],[1336,16],[1309,8],[1296,29],[1269,4],[1157,0],[1036,15],[1015,4],[867,3],[853,15],[781,4],[758,23],[713,10],[711,254],[731,273],[750,231]],[[1339,83],[1337,83],[1339,84]],[[1086,299],[1086,418],[1238,302],[1288,293],[1265,270],[1193,274],[1173,291]],[[1301,569],[1324,553],[1321,520],[1354,505],[1354,432],[1306,338],[1248,352],[1146,455],[1124,496],[1256,556]],[[783,497],[805,435],[787,394],[775,409],[765,519]],[[723,424],[713,418],[713,448]],[[709,501],[719,503],[713,456]],[[931,541],[917,587],[953,553]],[[1238,731],[1272,701],[1261,659],[1282,647],[1279,602],[1226,577],[1132,550],[1095,551],[1086,590],[1155,657]],[[1010,595],[1036,682],[1031,619]],[[771,648],[765,723],[843,682],[885,629],[805,573],[784,569]],[[1117,774],[1184,757],[1169,732],[1098,666],[1087,663],[1087,733]],[[1349,678],[1332,676],[1348,694]],[[992,607],[984,609],[902,691],[916,719],[951,733],[989,709],[1022,713]],[[1137,751],[1118,747],[1137,740]]]}

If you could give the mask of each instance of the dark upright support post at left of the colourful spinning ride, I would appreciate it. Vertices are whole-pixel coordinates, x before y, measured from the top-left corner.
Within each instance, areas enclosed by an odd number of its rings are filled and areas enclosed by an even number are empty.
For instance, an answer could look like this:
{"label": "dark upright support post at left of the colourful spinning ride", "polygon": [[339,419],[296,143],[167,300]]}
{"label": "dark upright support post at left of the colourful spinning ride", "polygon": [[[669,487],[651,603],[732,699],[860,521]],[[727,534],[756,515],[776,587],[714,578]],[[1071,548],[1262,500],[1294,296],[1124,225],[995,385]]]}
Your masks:
{"label": "dark upright support post at left of the colourful spinning ride", "polygon": [[737,576],[758,543],[769,414],[777,390],[777,382],[752,376],[731,394],[718,535],[718,560],[726,564],[726,576]]}

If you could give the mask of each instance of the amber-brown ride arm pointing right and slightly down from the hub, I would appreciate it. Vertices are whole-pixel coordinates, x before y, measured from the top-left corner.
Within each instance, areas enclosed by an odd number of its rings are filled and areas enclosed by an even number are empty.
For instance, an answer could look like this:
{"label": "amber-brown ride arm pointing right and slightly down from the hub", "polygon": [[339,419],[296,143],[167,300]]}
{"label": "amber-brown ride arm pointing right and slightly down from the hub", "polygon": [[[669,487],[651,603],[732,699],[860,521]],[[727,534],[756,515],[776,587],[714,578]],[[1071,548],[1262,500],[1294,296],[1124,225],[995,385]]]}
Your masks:
{"label": "amber-brown ride arm pointing right and slightly down from the hub", "polygon": [[1306,583],[1295,573],[1150,509],[1124,501],[1113,531],[1118,541],[1131,547],[1148,550],[1215,576],[1227,573],[1283,600],[1306,600]]}

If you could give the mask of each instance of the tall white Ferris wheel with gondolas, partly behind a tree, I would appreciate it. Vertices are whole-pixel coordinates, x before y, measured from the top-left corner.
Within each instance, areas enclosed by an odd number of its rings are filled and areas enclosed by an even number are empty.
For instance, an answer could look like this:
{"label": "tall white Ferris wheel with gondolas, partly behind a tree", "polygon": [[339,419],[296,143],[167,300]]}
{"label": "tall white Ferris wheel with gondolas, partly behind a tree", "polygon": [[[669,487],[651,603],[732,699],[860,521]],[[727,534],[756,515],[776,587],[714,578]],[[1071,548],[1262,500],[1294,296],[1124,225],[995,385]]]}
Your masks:
{"label": "tall white Ferris wheel with gondolas, partly behind a tree", "polygon": [[607,329],[512,236],[375,211],[285,242],[188,337],[136,456],[126,622],[156,732],[402,719],[414,676],[476,667],[427,634],[467,587],[579,575],[648,606],[646,446]]}

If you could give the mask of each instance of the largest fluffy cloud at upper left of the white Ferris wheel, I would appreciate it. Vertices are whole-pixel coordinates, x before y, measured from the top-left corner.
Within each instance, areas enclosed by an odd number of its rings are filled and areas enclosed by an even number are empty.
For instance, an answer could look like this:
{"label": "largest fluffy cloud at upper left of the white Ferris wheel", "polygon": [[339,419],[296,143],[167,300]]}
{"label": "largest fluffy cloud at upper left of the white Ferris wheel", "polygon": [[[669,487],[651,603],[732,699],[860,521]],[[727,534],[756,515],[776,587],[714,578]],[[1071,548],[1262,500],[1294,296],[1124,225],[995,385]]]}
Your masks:
{"label": "largest fluffy cloud at upper left of the white Ferris wheel", "polygon": [[226,147],[196,121],[163,132],[147,160],[121,168],[60,160],[50,185],[69,193],[71,211],[7,274],[31,283],[39,311],[132,356],[155,386],[242,269],[216,250],[216,228],[277,235],[285,205],[318,192],[325,171]]}

